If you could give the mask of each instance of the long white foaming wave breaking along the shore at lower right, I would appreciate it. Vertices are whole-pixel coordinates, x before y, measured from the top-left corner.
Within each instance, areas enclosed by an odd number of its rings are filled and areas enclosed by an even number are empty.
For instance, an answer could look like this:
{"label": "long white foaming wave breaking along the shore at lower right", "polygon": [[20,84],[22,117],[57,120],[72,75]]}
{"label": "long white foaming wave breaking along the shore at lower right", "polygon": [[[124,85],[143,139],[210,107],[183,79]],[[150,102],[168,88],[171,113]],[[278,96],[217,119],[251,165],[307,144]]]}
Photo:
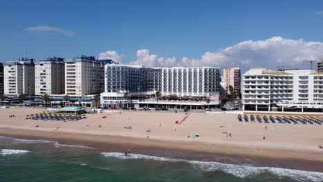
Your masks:
{"label": "long white foaming wave breaking along the shore at lower right", "polygon": [[124,153],[118,152],[102,152],[104,156],[112,157],[115,159],[151,159],[155,161],[185,161],[193,165],[197,170],[209,172],[209,171],[223,171],[227,174],[233,174],[234,176],[245,178],[248,176],[256,176],[262,173],[271,173],[277,176],[288,176],[291,179],[297,181],[323,181],[322,172],[311,172],[302,170],[291,170],[285,168],[272,168],[272,167],[255,167],[251,165],[236,165],[228,163],[206,162],[206,161],[188,161],[184,159],[171,159],[159,156],[148,156],[143,154],[129,154],[126,156]]}

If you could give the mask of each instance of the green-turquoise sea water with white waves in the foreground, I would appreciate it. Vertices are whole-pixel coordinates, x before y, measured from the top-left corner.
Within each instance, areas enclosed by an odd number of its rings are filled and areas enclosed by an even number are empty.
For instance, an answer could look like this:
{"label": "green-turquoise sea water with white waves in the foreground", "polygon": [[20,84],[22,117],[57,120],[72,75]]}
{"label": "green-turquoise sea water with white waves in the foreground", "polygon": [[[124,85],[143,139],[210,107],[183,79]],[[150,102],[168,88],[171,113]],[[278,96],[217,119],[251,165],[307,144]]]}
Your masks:
{"label": "green-turquoise sea water with white waves in the foreground", "polygon": [[125,156],[55,141],[0,136],[0,181],[323,181],[323,173]]}

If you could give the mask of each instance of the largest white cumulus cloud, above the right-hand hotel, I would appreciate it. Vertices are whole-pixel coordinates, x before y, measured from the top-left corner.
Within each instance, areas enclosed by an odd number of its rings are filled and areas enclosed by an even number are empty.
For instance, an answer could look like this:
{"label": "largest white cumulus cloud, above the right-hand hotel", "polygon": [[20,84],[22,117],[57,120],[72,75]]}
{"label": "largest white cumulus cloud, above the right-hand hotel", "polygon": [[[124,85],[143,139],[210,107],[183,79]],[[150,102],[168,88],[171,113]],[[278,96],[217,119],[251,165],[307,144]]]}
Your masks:
{"label": "largest white cumulus cloud, above the right-hand hotel", "polygon": [[[206,52],[199,59],[183,57],[179,65],[242,68],[309,68],[306,61],[323,59],[323,43],[272,37],[264,41],[243,41],[216,52]],[[304,68],[304,69],[305,69]]]}

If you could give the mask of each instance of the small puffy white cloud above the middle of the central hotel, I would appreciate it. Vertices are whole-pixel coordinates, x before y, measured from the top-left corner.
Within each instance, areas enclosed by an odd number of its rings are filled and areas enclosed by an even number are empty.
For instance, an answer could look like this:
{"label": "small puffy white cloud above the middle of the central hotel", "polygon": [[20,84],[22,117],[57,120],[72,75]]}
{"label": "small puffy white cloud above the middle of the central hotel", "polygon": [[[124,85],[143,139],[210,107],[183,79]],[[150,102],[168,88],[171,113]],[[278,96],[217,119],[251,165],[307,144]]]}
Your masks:
{"label": "small puffy white cloud above the middle of the central hotel", "polygon": [[130,62],[132,65],[144,65],[146,67],[172,67],[177,64],[175,57],[158,57],[150,54],[149,50],[137,50],[137,61]]}

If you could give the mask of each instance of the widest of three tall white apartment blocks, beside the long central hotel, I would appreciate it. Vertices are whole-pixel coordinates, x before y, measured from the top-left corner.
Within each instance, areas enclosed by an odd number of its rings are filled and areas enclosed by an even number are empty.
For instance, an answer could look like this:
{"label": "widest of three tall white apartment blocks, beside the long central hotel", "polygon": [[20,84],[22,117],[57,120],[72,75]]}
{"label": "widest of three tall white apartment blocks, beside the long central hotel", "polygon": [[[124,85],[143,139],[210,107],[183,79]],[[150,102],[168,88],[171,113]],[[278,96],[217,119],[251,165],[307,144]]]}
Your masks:
{"label": "widest of three tall white apartment blocks, beside the long central hotel", "polygon": [[65,94],[86,97],[104,92],[104,65],[111,60],[97,60],[81,56],[65,61]]}

